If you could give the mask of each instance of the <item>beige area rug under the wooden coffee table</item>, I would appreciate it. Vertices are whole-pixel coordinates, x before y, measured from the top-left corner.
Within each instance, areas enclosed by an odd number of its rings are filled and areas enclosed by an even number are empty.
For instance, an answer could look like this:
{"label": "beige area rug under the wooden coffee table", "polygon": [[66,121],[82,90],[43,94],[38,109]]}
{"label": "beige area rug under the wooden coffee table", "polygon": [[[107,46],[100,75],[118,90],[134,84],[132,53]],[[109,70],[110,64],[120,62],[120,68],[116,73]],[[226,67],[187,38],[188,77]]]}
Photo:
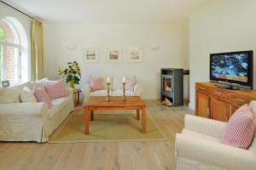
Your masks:
{"label": "beige area rug under the wooden coffee table", "polygon": [[90,122],[90,133],[85,135],[82,113],[80,111],[69,117],[61,130],[49,139],[49,143],[167,140],[149,115],[147,133],[142,133],[141,120],[138,121],[136,114],[131,112],[95,113],[95,121]]}

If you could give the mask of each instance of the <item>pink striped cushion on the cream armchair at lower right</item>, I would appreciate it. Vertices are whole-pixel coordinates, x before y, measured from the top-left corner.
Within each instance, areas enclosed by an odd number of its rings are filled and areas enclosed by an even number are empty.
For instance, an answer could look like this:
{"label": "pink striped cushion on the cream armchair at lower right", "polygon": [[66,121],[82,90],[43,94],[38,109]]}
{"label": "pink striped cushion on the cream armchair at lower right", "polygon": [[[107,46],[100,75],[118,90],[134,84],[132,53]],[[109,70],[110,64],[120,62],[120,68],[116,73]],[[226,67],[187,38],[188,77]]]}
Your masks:
{"label": "pink striped cushion on the cream armchair at lower right", "polygon": [[254,134],[253,113],[242,105],[231,117],[224,130],[222,142],[241,149],[248,149]]}

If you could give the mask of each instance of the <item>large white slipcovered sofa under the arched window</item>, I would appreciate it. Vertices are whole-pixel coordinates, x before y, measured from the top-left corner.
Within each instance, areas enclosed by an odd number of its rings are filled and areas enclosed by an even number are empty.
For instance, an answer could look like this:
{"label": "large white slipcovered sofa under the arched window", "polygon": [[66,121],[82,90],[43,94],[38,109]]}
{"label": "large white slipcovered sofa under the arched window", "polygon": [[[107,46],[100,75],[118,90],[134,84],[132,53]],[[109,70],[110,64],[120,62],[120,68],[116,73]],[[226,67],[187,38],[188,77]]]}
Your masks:
{"label": "large white slipcovered sofa under the arched window", "polygon": [[[13,89],[19,95],[25,86],[31,88],[33,83],[44,86],[42,81],[26,82]],[[53,99],[50,109],[46,103],[0,104],[0,141],[48,141],[55,128],[74,111],[73,89],[67,89],[69,96]]]}

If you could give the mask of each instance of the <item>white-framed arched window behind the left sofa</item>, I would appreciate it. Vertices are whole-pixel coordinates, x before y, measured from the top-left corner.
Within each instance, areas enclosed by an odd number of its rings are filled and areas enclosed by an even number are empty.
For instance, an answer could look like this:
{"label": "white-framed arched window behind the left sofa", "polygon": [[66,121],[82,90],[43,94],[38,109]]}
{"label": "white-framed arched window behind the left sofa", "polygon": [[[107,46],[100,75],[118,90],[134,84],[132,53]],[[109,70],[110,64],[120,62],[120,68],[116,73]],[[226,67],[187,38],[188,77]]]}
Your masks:
{"label": "white-framed arched window behind the left sofa", "polygon": [[[0,82],[26,82],[28,77],[28,40],[19,20],[0,19]],[[24,77],[23,77],[24,76]]]}

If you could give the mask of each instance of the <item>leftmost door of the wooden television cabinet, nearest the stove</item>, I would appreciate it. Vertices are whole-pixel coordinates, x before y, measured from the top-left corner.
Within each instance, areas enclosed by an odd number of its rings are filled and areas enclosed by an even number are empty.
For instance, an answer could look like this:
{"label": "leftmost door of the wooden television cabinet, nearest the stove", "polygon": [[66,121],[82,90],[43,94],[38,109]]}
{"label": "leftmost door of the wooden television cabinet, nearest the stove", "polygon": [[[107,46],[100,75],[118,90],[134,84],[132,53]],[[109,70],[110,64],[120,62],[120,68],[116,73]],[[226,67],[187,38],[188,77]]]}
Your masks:
{"label": "leftmost door of the wooden television cabinet, nearest the stove", "polygon": [[209,101],[210,98],[206,94],[197,93],[196,96],[196,115],[202,117],[209,117]]}

